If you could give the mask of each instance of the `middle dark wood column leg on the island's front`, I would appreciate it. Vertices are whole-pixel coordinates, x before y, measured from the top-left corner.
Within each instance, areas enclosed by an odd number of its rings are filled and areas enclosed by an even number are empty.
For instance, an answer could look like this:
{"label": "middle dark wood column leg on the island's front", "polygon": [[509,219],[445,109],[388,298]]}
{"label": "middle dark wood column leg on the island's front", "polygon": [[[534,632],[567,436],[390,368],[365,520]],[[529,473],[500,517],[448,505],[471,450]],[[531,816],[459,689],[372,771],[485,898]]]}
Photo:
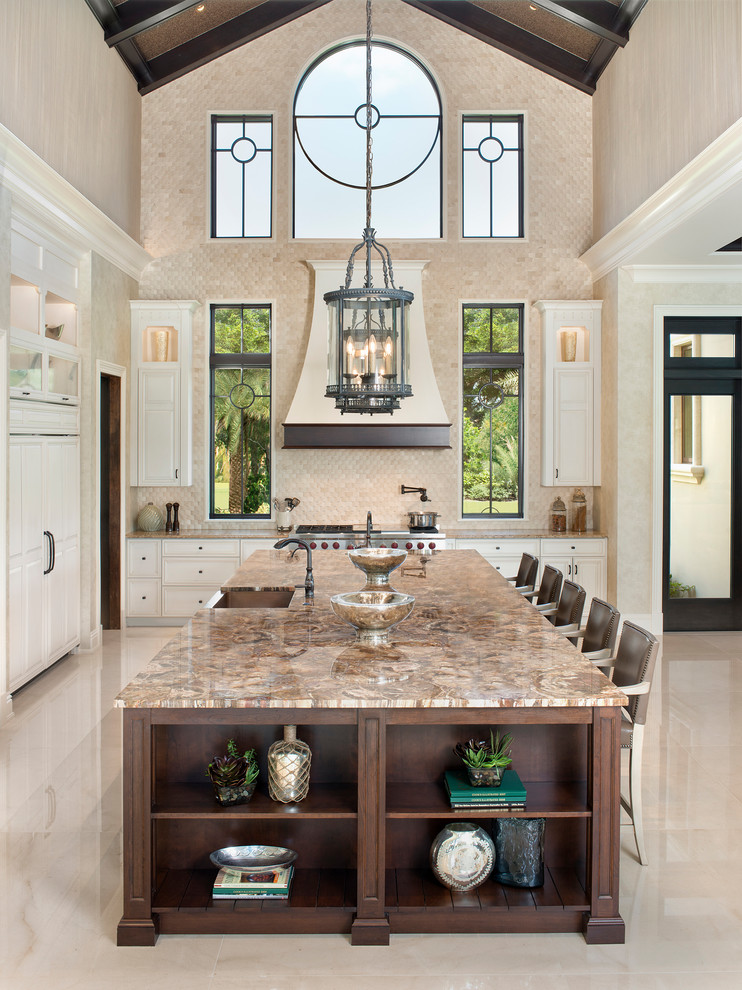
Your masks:
{"label": "middle dark wood column leg on the island's front", "polygon": [[352,945],[388,945],[385,912],[386,724],[383,711],[358,712],[358,895]]}

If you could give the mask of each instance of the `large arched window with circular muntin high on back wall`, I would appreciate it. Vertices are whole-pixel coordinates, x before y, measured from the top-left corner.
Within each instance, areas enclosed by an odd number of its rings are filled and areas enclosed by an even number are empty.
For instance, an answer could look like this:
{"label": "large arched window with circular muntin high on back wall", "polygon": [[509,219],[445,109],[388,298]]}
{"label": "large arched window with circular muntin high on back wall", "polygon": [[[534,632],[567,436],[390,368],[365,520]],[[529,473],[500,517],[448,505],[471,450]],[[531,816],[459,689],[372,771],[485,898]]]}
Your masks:
{"label": "large arched window with circular muntin high on back wall", "polygon": [[[439,238],[441,101],[402,49],[372,42],[373,225],[379,240]],[[294,237],[354,238],[365,226],[366,46],[335,48],[294,98]]]}

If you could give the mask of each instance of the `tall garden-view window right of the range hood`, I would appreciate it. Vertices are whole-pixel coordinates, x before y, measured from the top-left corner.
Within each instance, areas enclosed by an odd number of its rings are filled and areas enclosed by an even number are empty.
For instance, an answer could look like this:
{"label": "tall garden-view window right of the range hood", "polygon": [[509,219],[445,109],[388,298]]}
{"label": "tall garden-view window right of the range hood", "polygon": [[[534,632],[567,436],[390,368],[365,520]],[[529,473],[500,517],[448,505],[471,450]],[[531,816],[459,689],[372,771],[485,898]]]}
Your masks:
{"label": "tall garden-view window right of the range hood", "polygon": [[523,515],[523,306],[464,306],[464,516]]}

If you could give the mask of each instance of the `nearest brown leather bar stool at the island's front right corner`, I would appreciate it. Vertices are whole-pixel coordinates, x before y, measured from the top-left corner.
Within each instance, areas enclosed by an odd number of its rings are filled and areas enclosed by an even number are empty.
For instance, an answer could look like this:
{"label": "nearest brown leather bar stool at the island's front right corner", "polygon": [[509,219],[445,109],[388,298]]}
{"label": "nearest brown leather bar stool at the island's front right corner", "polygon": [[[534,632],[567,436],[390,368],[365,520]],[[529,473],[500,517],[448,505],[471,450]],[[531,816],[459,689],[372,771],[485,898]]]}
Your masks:
{"label": "nearest brown leather bar stool at the island's front right corner", "polygon": [[631,819],[642,866],[647,865],[642,815],[642,750],[658,646],[656,637],[650,632],[625,621],[615,658],[598,664],[629,698],[628,705],[621,709],[621,749],[629,750],[629,792],[621,794],[621,807]]}

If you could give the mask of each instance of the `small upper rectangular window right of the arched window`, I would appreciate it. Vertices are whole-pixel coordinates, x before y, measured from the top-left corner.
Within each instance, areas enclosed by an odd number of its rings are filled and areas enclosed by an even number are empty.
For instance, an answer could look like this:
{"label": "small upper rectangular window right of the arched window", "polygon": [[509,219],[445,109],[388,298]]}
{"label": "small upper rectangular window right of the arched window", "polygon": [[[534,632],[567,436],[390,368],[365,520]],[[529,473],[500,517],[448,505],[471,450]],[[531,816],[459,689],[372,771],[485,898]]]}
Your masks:
{"label": "small upper rectangular window right of the arched window", "polygon": [[523,237],[523,117],[464,117],[464,237]]}

